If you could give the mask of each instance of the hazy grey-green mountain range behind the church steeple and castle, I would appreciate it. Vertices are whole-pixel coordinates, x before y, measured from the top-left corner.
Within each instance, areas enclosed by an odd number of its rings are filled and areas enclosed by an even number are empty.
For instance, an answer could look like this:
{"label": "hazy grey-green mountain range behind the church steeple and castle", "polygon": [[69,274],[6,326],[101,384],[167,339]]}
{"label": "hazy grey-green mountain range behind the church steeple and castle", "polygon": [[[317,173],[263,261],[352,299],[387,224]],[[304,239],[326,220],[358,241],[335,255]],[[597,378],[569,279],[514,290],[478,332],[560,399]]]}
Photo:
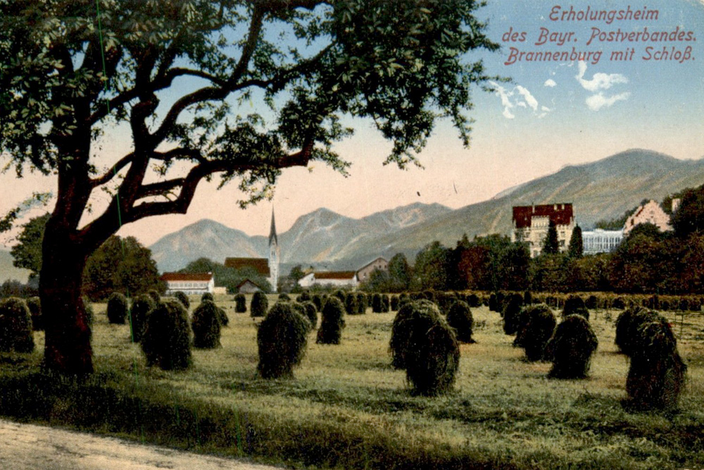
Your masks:
{"label": "hazy grey-green mountain range behind the church steeple and castle", "polygon": [[[410,204],[355,219],[329,209],[299,217],[279,233],[282,272],[302,264],[318,268],[356,269],[377,256],[402,252],[413,261],[429,242],[446,246],[467,234],[511,229],[512,206],[571,202],[577,223],[589,229],[601,219],[617,218],[643,199],[661,201],[667,194],[704,183],[704,160],[679,160],[655,151],[631,149],[605,159],[565,166],[460,209],[441,204]],[[265,257],[268,237],[250,237],[218,222],[202,220],[166,235],[150,248],[161,271],[175,271],[201,256],[223,262],[227,256]]]}

